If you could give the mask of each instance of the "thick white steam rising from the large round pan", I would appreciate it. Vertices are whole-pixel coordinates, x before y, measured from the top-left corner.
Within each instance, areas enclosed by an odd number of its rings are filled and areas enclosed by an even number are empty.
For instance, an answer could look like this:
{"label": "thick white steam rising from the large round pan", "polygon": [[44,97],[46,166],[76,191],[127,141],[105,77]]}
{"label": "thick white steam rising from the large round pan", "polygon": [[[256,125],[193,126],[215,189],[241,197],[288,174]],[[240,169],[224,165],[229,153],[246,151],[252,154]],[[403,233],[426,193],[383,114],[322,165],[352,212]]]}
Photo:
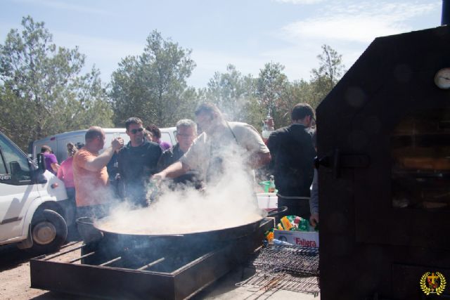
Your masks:
{"label": "thick white steam rising from the large round pan", "polygon": [[262,218],[254,193],[254,181],[246,167],[248,153],[236,143],[221,148],[221,171],[205,190],[193,187],[171,190],[161,187],[150,207],[130,210],[127,204],[114,209],[110,222],[99,227],[129,234],[183,234],[230,228]]}

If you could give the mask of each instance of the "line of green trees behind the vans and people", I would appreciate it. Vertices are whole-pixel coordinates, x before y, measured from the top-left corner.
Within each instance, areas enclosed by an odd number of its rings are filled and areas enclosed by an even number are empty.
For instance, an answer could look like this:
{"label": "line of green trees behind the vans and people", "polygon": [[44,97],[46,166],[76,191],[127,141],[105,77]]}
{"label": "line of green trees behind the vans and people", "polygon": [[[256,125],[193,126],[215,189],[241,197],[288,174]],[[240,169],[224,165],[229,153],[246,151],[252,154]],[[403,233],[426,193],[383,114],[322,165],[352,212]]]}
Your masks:
{"label": "line of green trees behind the vans and people", "polygon": [[122,58],[105,83],[95,66],[82,74],[86,56],[77,47],[53,44],[44,22],[27,16],[22,27],[0,44],[0,130],[23,150],[56,133],[93,125],[122,127],[131,116],[144,124],[174,126],[179,119],[193,119],[204,101],[216,103],[228,119],[257,129],[269,113],[278,128],[290,123],[296,103],[317,107],[345,73],[342,56],[323,45],[319,67],[308,81],[289,81],[280,63],[266,63],[258,77],[230,64],[226,72],[215,72],[205,88],[195,89],[186,83],[195,69],[192,50],[153,30],[143,53]]}

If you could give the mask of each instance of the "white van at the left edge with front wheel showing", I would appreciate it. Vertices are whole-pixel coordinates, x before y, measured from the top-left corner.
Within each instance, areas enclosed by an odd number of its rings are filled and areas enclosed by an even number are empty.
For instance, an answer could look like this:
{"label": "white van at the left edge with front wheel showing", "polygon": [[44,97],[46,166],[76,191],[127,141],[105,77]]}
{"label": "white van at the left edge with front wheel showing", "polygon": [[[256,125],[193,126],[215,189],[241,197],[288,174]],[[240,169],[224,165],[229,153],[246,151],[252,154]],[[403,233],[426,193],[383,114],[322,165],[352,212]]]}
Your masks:
{"label": "white van at the left edge with front wheel showing", "polygon": [[67,194],[63,181],[36,165],[0,132],[0,245],[53,252],[65,241]]}

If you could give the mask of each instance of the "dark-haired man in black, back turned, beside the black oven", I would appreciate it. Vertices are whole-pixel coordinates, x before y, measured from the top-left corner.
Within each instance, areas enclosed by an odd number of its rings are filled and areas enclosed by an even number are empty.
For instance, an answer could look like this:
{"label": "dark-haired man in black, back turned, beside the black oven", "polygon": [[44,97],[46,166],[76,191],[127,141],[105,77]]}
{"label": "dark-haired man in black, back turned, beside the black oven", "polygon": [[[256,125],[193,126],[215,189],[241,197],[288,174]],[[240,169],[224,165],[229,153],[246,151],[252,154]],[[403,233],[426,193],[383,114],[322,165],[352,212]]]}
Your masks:
{"label": "dark-haired man in black, back turned, beside the black oven", "polygon": [[291,119],[290,126],[274,131],[267,141],[271,171],[278,189],[278,207],[289,208],[285,215],[309,220],[309,187],[316,157],[311,139],[314,110],[307,103],[299,103],[293,107]]}

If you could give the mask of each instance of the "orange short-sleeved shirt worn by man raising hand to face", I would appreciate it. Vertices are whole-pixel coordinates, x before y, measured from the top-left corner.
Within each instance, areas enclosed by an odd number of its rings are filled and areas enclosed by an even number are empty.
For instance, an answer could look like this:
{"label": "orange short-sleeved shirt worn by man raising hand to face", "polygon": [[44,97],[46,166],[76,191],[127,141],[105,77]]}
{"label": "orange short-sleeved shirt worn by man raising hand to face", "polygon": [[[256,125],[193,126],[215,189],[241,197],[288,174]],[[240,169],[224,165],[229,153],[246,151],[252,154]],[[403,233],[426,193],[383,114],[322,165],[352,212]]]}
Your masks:
{"label": "orange short-sleeved shirt worn by man raising hand to face", "polygon": [[98,171],[86,169],[86,163],[97,156],[82,148],[73,157],[72,168],[77,207],[104,204],[111,200],[106,167]]}

